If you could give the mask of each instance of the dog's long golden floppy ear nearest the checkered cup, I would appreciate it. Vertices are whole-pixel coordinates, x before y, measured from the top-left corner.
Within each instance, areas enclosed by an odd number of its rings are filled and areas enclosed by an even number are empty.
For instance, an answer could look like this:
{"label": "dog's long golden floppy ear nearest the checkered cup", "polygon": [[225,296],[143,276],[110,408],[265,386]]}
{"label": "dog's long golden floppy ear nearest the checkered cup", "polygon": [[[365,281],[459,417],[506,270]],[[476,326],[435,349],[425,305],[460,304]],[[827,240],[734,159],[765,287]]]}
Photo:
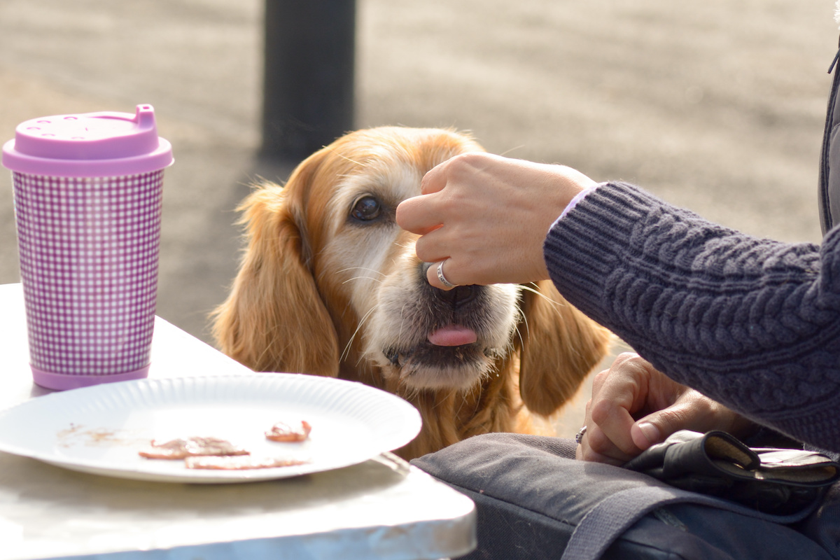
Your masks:
{"label": "dog's long golden floppy ear nearest the checkered cup", "polygon": [[307,262],[297,207],[312,157],[285,187],[264,185],[239,207],[248,246],[230,296],[214,311],[219,349],[256,371],[336,376],[339,341]]}

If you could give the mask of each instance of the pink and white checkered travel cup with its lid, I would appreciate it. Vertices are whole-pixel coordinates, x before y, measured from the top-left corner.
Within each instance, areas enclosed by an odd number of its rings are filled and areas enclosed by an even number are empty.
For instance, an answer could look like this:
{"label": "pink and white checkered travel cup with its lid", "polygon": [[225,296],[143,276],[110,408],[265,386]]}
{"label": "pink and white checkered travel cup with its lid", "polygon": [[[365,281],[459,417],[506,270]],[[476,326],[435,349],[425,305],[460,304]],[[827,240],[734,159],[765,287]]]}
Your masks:
{"label": "pink and white checkered travel cup with its lid", "polygon": [[65,390],[148,375],[172,161],[150,105],[34,118],[3,146],[36,384]]}

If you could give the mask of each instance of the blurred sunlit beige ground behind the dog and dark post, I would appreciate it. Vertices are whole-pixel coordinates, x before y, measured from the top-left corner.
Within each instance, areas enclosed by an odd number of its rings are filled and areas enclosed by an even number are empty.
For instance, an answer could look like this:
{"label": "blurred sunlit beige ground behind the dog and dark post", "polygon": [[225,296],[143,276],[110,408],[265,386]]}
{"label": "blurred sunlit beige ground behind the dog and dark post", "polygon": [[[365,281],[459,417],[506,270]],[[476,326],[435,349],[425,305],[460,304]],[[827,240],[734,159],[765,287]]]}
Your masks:
{"label": "blurred sunlit beige ground behind the dog and dark post", "polygon": [[[210,342],[257,177],[266,0],[3,0],[0,141],[29,118],[155,107],[158,314]],[[272,0],[267,0],[271,2]],[[471,131],[497,154],[632,181],[754,235],[818,242],[832,0],[357,0],[354,128]],[[17,282],[0,173],[0,283]],[[580,395],[569,430],[580,424]],[[566,422],[560,419],[561,426]]]}

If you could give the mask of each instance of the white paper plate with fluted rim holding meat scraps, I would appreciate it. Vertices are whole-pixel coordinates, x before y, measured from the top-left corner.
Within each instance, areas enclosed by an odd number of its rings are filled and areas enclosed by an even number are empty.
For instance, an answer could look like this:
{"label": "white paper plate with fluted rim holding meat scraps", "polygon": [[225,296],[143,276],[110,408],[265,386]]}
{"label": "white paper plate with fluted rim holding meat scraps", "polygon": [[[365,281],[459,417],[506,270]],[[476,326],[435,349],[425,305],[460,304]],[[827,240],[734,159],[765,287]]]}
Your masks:
{"label": "white paper plate with fluted rim holding meat scraps", "polygon": [[[306,420],[306,442],[265,439],[277,421]],[[360,383],[302,374],[140,379],[53,393],[0,412],[0,451],[86,473],[218,484],[281,479],[362,463],[410,442],[420,415]],[[222,437],[255,457],[308,463],[240,471],[141,458],[152,439]]]}

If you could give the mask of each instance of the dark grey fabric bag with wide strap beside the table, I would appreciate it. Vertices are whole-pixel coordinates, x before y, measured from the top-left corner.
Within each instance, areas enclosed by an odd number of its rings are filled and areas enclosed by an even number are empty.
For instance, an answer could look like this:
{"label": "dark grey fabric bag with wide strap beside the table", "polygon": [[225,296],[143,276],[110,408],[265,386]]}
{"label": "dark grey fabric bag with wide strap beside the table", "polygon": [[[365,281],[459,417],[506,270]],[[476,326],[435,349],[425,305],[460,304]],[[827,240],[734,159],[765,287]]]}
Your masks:
{"label": "dark grey fabric bag with wide strap beside the table", "polygon": [[470,560],[832,557],[796,529],[816,501],[774,515],[574,457],[572,440],[496,433],[412,464],[475,501],[479,544]]}

